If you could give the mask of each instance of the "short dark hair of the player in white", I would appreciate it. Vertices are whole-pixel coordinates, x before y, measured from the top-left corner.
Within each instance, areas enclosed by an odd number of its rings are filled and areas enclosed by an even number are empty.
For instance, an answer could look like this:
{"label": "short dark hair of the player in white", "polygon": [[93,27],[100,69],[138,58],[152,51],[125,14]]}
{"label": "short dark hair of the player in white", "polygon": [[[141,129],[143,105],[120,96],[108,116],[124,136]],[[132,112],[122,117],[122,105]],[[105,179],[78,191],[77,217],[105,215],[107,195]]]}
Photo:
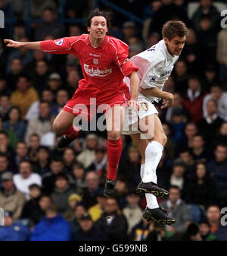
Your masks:
{"label": "short dark hair of the player in white", "polygon": [[167,21],[163,25],[162,35],[168,40],[172,40],[174,36],[183,37],[188,33],[188,28],[182,21]]}

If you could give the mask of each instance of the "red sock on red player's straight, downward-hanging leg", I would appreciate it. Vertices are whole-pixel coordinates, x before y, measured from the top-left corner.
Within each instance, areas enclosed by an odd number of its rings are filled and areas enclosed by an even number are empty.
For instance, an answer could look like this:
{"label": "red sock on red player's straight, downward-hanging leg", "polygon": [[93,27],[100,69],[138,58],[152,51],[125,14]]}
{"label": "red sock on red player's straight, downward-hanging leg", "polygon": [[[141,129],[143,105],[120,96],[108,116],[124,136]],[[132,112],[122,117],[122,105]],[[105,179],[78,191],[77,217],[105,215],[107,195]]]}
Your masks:
{"label": "red sock on red player's straight, downward-hanging leg", "polygon": [[115,180],[117,178],[117,167],[120,162],[120,156],[122,153],[122,141],[121,137],[117,140],[107,140],[107,160],[108,160],[108,172],[107,179]]}

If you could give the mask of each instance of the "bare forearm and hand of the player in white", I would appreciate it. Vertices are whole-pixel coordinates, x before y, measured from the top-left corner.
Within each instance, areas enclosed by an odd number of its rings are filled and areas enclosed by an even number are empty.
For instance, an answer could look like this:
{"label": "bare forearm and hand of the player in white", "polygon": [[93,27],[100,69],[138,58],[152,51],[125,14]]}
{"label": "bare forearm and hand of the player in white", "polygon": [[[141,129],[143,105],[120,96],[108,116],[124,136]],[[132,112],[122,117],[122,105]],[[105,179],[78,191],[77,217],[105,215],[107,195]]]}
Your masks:
{"label": "bare forearm and hand of the player in white", "polygon": [[149,89],[143,89],[140,87],[140,92],[145,95],[162,99],[163,105],[161,106],[161,109],[164,109],[168,106],[173,106],[174,98],[172,93],[163,92],[162,90],[159,90],[157,87],[149,88]]}

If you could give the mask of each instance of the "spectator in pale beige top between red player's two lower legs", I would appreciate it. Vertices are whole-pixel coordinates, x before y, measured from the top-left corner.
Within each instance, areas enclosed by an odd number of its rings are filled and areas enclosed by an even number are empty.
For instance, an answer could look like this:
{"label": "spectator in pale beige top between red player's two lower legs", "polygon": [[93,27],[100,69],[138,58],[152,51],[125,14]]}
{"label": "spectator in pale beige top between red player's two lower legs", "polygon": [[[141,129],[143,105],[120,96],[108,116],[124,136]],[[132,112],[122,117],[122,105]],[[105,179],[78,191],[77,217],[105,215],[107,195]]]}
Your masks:
{"label": "spectator in pale beige top between red player's two lower legs", "polygon": [[84,168],[88,168],[95,161],[95,148],[97,144],[97,135],[88,134],[86,137],[86,149],[76,157],[76,160],[81,163]]}

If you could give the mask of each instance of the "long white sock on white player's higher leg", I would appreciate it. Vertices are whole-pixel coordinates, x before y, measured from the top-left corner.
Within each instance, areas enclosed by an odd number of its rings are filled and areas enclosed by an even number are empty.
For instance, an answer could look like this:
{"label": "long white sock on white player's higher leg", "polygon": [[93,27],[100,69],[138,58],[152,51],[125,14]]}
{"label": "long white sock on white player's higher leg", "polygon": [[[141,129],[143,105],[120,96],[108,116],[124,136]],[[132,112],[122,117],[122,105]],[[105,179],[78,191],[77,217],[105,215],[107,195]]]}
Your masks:
{"label": "long white sock on white player's higher leg", "polygon": [[143,182],[154,182],[157,184],[156,169],[163,155],[163,146],[157,141],[151,141],[145,150],[145,170],[142,177]]}

